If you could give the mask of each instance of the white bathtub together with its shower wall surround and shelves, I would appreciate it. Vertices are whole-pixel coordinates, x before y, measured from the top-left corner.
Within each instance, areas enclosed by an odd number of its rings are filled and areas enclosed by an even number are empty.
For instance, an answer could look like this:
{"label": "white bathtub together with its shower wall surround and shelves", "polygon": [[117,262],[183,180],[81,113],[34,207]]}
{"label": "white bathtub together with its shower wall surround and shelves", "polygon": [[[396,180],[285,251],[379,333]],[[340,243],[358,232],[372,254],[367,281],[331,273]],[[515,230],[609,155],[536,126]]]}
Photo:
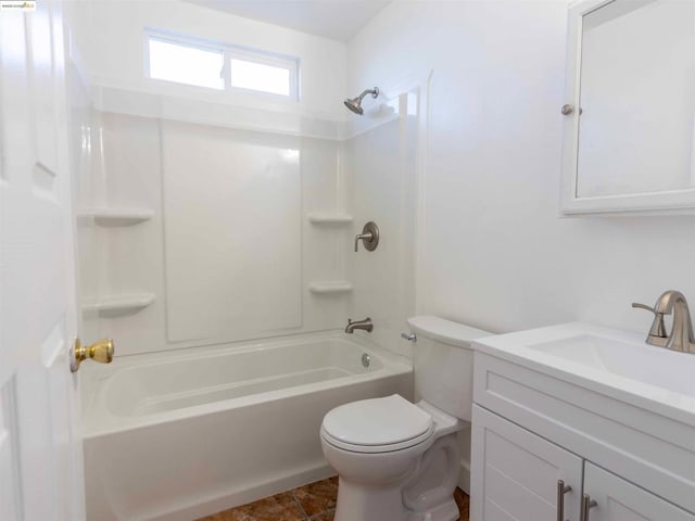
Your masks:
{"label": "white bathtub together with its shower wall surround and shelves", "polygon": [[[137,3],[170,23],[167,2]],[[235,33],[236,18],[186,9]],[[399,334],[415,307],[420,84],[368,89],[348,119],[342,88],[325,117],[71,75],[80,335],[115,343],[112,364],[79,372],[87,519],[191,521],[334,475],[324,416],[413,397]],[[343,333],[350,316],[374,331]]]}

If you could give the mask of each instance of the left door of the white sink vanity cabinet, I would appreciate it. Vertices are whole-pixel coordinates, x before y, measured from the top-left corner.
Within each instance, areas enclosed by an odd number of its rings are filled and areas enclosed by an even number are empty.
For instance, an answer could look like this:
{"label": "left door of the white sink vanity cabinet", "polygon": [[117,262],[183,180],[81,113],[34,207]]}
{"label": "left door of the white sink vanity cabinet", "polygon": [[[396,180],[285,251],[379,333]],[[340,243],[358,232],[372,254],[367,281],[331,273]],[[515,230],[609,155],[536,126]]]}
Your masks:
{"label": "left door of the white sink vanity cabinet", "polygon": [[557,521],[559,480],[561,519],[579,521],[582,459],[473,406],[471,521]]}

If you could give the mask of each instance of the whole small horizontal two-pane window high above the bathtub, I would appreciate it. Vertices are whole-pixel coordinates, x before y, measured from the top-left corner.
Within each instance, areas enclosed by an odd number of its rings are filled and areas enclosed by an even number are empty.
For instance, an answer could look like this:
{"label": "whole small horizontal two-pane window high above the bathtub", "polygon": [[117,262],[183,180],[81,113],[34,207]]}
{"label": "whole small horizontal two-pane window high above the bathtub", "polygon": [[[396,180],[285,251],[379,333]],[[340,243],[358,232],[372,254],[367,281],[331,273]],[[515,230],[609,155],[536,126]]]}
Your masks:
{"label": "whole small horizontal two-pane window high above the bathtub", "polygon": [[299,60],[176,35],[147,33],[149,77],[299,100]]}

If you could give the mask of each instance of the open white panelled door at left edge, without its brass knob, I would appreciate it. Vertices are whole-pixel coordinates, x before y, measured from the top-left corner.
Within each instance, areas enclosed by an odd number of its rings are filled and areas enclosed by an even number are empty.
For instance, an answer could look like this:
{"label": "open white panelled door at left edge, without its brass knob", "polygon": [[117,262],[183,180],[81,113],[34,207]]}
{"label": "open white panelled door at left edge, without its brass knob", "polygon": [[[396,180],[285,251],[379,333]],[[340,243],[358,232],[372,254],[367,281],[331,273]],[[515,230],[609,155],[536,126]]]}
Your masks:
{"label": "open white panelled door at left edge, without its brass knob", "polygon": [[0,11],[0,519],[84,519],[58,0]]}

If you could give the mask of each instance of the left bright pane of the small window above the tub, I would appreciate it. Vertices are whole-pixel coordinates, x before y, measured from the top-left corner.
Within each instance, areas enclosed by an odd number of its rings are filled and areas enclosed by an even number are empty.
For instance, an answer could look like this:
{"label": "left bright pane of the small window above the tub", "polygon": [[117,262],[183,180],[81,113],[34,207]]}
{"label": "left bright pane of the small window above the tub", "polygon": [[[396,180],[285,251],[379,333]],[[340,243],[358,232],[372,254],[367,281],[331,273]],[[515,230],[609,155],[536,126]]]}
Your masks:
{"label": "left bright pane of the small window above the tub", "polygon": [[150,77],[224,90],[223,51],[150,38]]}

